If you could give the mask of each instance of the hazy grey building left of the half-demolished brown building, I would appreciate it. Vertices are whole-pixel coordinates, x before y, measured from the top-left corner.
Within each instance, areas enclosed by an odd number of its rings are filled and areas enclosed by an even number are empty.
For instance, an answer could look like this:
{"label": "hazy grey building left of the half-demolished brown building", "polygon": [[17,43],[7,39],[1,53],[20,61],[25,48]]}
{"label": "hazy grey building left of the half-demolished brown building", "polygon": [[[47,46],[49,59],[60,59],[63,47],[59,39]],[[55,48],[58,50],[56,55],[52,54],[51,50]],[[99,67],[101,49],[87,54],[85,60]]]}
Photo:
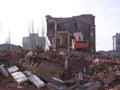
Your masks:
{"label": "hazy grey building left of the half-demolished brown building", "polygon": [[46,38],[45,37],[39,37],[37,33],[30,33],[28,37],[23,37],[23,48],[25,49],[33,49],[36,46],[42,46],[42,48],[45,50],[46,46]]}

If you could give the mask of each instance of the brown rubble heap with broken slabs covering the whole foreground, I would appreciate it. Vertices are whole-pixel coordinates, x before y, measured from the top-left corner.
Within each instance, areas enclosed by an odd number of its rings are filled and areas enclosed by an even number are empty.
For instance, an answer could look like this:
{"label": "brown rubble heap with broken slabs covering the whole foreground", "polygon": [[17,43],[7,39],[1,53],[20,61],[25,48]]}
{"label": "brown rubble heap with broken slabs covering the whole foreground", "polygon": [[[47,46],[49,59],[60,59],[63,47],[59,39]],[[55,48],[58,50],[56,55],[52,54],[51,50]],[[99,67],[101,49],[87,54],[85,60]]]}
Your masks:
{"label": "brown rubble heap with broken slabs covering the whole foreground", "polygon": [[120,61],[117,56],[71,51],[0,52],[1,88],[40,90],[119,90]]}

